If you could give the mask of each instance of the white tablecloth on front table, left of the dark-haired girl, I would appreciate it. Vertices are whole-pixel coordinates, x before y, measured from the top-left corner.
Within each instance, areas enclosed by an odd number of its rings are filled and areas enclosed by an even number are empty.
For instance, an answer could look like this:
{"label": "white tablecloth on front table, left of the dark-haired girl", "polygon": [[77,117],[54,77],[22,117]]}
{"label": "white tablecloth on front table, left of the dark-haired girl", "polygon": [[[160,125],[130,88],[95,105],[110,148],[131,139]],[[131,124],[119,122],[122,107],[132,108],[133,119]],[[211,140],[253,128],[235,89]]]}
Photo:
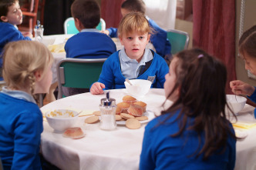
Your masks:
{"label": "white tablecloth on front table, left of the dark-haired girl", "polygon": [[[126,89],[111,90],[110,98],[116,103],[122,102]],[[101,98],[105,95],[91,95],[84,93],[62,98],[41,108],[47,112],[56,108],[73,108],[83,111],[99,110]],[[165,100],[163,89],[151,89],[143,98],[137,98],[147,103],[147,110],[160,108]],[[143,140],[143,125],[140,129],[131,130],[124,125],[118,125],[114,131],[99,129],[99,123],[88,125],[84,123],[86,117],[79,117],[77,126],[86,133],[84,138],[63,138],[56,134],[44,122],[42,132],[42,154],[53,165],[61,169],[138,169]]]}

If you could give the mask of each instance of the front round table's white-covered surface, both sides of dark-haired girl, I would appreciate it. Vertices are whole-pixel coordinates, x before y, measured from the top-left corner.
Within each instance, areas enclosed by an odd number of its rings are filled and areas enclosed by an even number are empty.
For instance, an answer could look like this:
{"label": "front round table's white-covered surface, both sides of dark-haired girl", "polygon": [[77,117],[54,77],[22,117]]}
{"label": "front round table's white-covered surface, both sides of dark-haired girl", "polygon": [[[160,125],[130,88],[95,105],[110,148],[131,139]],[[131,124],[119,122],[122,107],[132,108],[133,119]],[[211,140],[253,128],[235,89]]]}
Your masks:
{"label": "front round table's white-covered surface, both sides of dark-haired girl", "polygon": [[[87,92],[58,99],[41,108],[43,114],[63,108],[82,112],[74,126],[82,128],[85,133],[85,137],[79,139],[64,138],[44,119],[41,148],[48,162],[60,169],[139,169],[147,122],[143,122],[139,129],[126,128],[125,124],[117,123],[112,131],[102,130],[99,123],[84,122],[93,112],[99,111],[100,99],[106,98],[106,92],[109,92],[110,98],[116,99],[116,103],[123,102],[123,96],[129,95],[126,88],[106,90],[103,95]],[[166,100],[162,88],[150,88],[146,95],[136,99],[147,103],[149,121],[172,104]],[[241,137],[236,143],[236,170],[256,169],[256,120],[253,112],[254,107],[245,104],[236,118],[227,116],[234,125],[236,135]]]}

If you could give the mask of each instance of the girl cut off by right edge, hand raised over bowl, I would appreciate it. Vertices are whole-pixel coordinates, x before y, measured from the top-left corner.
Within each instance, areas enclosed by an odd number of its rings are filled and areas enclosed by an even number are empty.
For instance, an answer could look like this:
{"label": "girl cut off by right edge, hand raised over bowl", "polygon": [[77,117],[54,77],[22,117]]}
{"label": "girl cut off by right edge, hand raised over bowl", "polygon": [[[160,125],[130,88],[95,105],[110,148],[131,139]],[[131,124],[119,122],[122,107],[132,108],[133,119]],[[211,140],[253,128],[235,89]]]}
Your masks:
{"label": "girl cut off by right edge, hand raised over bowl", "polygon": [[[245,61],[245,69],[256,75],[256,25],[249,28],[239,40],[239,54]],[[236,95],[247,95],[252,102],[256,102],[255,87],[240,80],[230,82],[232,92]],[[254,116],[256,116],[254,110]],[[256,117],[255,117],[256,118]]]}

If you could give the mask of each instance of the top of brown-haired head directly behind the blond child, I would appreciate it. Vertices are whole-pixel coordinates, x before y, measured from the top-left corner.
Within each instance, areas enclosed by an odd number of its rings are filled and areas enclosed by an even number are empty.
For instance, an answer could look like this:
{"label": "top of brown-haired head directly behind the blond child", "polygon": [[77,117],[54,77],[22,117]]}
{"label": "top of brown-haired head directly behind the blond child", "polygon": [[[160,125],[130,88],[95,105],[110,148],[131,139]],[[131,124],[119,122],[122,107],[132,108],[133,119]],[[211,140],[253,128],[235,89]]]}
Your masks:
{"label": "top of brown-haired head directly behind the blond child", "polygon": [[126,0],[121,5],[121,13],[123,16],[130,12],[141,12],[145,15],[146,5],[143,0]]}

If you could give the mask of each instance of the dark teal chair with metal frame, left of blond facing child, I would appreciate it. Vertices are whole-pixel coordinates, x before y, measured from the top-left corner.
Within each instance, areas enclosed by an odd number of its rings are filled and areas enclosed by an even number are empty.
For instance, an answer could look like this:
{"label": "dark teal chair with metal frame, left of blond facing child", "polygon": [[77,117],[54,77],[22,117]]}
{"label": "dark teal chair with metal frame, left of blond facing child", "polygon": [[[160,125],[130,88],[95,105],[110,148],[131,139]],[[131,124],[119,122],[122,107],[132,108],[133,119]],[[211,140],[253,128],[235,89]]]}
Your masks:
{"label": "dark teal chair with metal frame, left of blond facing child", "polygon": [[57,65],[58,99],[65,97],[62,86],[69,88],[90,88],[97,82],[106,58],[65,58]]}

